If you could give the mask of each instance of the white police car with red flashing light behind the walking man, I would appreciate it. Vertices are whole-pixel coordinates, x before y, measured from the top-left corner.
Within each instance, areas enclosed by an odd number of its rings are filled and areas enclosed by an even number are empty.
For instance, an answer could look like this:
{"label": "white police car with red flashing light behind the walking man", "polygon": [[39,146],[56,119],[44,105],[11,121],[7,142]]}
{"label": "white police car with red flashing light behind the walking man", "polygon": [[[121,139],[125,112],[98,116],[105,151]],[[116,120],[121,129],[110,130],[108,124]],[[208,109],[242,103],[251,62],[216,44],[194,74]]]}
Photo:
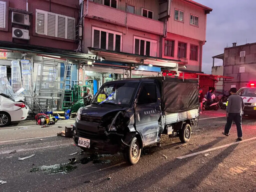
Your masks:
{"label": "white police car with red flashing light behind the walking man", "polygon": [[249,83],[248,87],[242,87],[237,91],[244,102],[243,115],[256,116],[256,84]]}

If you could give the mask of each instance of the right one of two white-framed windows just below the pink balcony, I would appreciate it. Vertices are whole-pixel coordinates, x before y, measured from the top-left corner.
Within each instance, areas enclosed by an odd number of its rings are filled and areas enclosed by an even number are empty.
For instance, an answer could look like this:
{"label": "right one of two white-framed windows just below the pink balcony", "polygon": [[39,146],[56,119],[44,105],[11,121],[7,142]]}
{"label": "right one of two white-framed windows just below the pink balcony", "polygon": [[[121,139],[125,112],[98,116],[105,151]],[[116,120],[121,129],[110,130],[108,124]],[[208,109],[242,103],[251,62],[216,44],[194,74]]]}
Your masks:
{"label": "right one of two white-framed windows just below the pink balcony", "polygon": [[151,40],[147,38],[134,37],[134,54],[146,55],[146,56],[156,56],[156,40]]}

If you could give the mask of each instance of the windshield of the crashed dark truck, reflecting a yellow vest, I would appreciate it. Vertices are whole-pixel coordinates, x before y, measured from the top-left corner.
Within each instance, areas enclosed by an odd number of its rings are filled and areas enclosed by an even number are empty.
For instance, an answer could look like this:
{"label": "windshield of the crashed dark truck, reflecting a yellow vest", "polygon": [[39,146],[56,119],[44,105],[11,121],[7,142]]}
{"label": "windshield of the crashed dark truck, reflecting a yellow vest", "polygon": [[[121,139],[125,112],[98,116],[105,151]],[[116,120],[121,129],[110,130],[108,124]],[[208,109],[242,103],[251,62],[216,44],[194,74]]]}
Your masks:
{"label": "windshield of the crashed dark truck, reflecting a yellow vest", "polygon": [[138,83],[133,82],[112,82],[100,87],[93,103],[117,104],[120,106],[130,105]]}

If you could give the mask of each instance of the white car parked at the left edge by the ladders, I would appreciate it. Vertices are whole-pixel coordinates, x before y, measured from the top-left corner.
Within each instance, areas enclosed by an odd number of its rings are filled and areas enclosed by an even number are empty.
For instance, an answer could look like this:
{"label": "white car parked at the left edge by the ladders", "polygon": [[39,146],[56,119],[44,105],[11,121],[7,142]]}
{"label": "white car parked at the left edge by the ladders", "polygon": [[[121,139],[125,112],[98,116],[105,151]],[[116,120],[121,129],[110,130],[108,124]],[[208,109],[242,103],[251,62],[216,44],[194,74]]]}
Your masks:
{"label": "white car parked at the left edge by the ladders", "polygon": [[12,121],[24,120],[27,113],[28,107],[23,102],[15,102],[8,95],[0,94],[0,126],[7,126]]}

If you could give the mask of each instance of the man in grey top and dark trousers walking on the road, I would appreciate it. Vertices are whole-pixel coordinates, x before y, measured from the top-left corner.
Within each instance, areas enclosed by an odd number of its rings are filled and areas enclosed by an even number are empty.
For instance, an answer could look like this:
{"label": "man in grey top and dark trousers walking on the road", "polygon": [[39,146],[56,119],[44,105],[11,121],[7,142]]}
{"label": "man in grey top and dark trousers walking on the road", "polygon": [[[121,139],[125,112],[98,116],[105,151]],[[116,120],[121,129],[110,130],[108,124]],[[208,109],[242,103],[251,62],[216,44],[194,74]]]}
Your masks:
{"label": "man in grey top and dark trousers walking on the road", "polygon": [[237,129],[237,137],[238,140],[242,140],[242,127],[241,127],[241,112],[244,107],[244,103],[242,100],[242,97],[240,97],[238,94],[236,94],[236,88],[232,87],[229,90],[229,93],[231,94],[228,97],[228,103],[226,107],[226,124],[225,129],[222,134],[228,136],[229,131],[232,125],[232,122],[234,121],[236,124]]}

